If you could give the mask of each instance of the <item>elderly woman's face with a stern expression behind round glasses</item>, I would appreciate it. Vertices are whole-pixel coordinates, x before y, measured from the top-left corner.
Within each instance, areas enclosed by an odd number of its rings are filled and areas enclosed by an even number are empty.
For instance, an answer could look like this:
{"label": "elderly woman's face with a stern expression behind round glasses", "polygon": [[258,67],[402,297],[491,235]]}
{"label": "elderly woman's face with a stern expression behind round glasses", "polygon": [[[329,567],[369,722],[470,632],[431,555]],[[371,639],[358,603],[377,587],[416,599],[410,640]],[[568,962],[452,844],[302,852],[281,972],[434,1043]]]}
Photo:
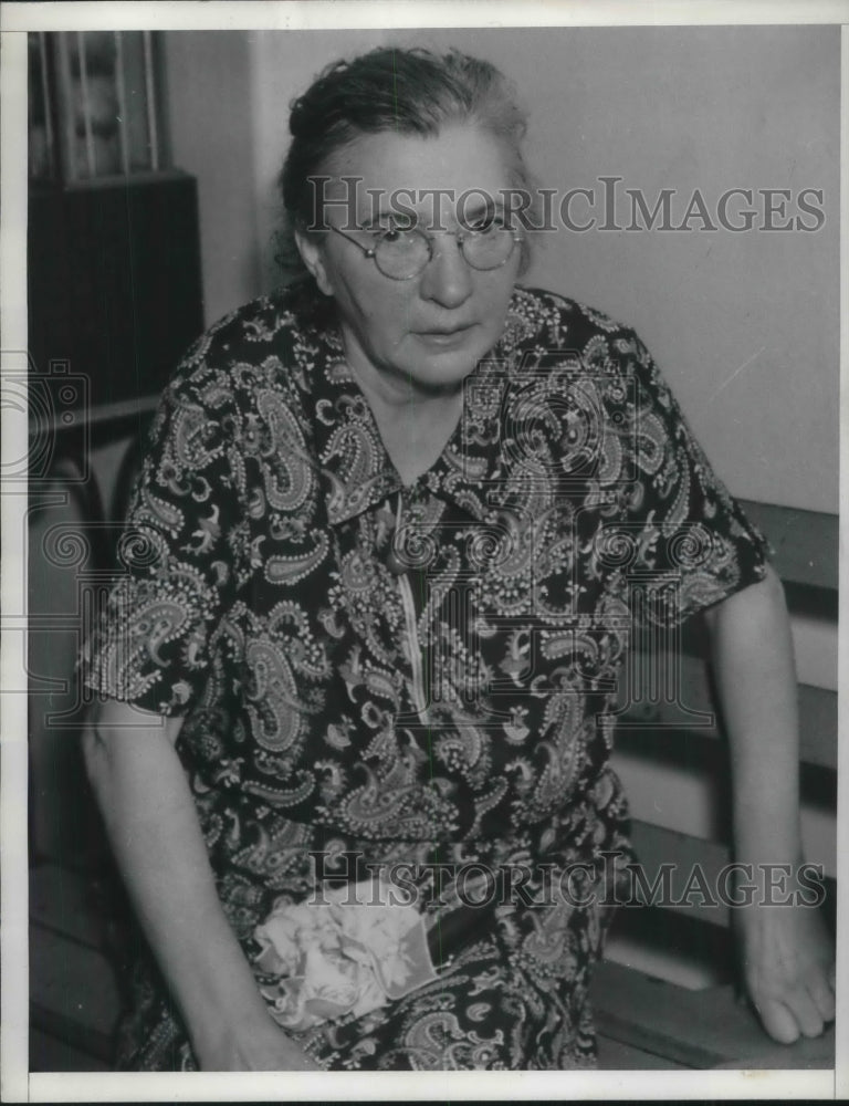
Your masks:
{"label": "elderly woman's face with a stern expression behind round glasses", "polygon": [[[479,192],[497,200],[510,187],[501,144],[473,125],[447,127],[434,137],[363,135],[334,158],[328,175],[334,178],[326,186],[328,197],[342,195],[337,178],[360,178],[356,223],[365,229],[352,230],[338,204],[326,205],[327,223],[371,248],[374,233],[392,226],[389,197],[406,189],[401,202],[415,209],[418,228],[431,234],[433,244],[427,268],[401,281],[384,275],[357,244],[333,230],[298,236],[318,286],[336,300],[352,368],[405,397],[411,387],[422,396],[455,390],[500,337],[520,265],[515,246],[501,268],[472,269],[447,233],[458,229],[455,200],[464,192],[474,190],[465,210],[467,221],[473,221],[475,201],[483,207]],[[422,196],[424,189],[446,190],[441,210],[434,212],[433,195]],[[442,231],[433,229],[440,226],[434,213],[441,216]]]}

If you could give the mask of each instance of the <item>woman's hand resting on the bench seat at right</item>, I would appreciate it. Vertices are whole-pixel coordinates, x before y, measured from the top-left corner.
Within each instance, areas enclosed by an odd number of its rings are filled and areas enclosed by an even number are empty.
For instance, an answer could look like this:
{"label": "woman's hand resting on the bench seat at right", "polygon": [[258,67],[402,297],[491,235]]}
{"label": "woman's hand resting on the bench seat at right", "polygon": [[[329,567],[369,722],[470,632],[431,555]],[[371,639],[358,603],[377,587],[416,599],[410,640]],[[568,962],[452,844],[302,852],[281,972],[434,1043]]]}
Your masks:
{"label": "woman's hand resting on the bench seat at right", "polygon": [[752,905],[734,910],[746,994],[782,1044],[818,1036],[835,1016],[835,960],[819,909]]}

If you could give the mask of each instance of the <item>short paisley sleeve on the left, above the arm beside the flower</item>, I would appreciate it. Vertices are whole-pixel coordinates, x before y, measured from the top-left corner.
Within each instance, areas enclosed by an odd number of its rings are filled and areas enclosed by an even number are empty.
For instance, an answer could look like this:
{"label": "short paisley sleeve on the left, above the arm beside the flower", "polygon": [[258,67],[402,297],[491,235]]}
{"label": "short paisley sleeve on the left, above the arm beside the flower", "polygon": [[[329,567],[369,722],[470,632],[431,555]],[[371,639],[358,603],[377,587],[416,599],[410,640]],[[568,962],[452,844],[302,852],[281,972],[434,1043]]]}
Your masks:
{"label": "short paisley sleeve on the left, above the arm beside the flower", "polygon": [[118,578],[81,657],[84,684],[165,714],[186,712],[210,635],[235,589],[240,520],[233,403],[203,365],[179,372],[149,434],[118,549]]}

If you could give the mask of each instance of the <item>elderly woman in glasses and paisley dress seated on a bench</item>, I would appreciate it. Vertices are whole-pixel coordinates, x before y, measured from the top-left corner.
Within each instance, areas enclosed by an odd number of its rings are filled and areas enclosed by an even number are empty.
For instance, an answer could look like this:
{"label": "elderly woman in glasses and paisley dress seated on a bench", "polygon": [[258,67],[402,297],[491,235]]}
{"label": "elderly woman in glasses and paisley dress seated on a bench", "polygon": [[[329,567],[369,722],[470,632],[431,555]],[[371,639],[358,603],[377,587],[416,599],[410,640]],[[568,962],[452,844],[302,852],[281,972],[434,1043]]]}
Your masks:
{"label": "elderly woman in glasses and paisley dress seated on a bench", "polygon": [[[301,271],[177,369],[87,662],[122,1066],[593,1066],[635,620],[705,612],[736,858],[798,864],[782,588],[633,332],[516,283],[493,66],[378,50],[290,126]],[[819,1033],[816,911],[735,912],[767,1031]]]}

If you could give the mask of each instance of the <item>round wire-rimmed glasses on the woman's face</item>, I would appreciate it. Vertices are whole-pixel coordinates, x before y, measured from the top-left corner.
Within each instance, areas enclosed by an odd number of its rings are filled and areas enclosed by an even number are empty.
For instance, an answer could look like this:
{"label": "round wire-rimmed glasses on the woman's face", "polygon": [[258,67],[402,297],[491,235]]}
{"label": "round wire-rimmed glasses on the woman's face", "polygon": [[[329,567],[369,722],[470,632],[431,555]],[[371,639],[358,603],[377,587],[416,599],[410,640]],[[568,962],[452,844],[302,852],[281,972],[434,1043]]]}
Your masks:
{"label": "round wire-rimmed glasses on the woman's face", "polygon": [[[378,270],[390,280],[412,280],[424,272],[433,258],[433,239],[416,227],[409,230],[385,230],[374,246],[364,246],[353,234],[329,223],[337,234],[359,247],[371,258]],[[510,261],[522,236],[501,222],[491,222],[482,230],[446,231],[457,239],[457,244],[472,267],[486,272],[500,269]]]}

